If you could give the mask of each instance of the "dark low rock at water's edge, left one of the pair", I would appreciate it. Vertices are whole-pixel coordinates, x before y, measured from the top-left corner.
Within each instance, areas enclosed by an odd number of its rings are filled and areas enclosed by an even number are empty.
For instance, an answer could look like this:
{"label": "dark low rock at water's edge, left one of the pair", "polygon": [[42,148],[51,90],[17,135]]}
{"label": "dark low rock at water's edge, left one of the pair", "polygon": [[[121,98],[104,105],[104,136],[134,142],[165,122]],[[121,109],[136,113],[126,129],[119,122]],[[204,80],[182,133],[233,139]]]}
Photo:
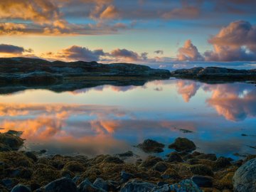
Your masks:
{"label": "dark low rock at water's edge, left one of the pair", "polygon": [[144,142],[142,144],[138,144],[137,147],[146,153],[161,153],[164,151],[164,144],[151,139],[144,140]]}

